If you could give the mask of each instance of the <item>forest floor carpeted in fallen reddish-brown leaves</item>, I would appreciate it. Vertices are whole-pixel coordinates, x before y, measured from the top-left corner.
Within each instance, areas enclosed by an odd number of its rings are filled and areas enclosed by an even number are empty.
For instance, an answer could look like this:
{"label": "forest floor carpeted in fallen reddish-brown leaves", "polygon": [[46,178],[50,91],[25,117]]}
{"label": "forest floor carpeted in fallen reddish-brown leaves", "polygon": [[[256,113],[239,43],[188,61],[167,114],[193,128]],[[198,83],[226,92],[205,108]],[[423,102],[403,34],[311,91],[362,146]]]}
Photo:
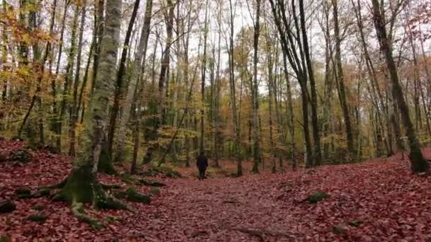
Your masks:
{"label": "forest floor carpeted in fallen reddish-brown leaves", "polygon": [[[20,149],[0,142],[0,155]],[[427,158],[431,149],[424,149]],[[431,178],[413,175],[401,154],[363,163],[241,178],[152,178],[166,186],[150,204],[131,203],[136,212],[86,211],[103,223],[93,230],[79,222],[67,204],[46,197],[18,199],[16,189],[36,189],[65,178],[72,168],[66,156],[33,151],[30,163],[0,162],[0,201],[16,210],[0,214],[0,238],[30,241],[430,241]],[[227,162],[227,161],[226,161]],[[248,167],[250,164],[245,163]],[[103,183],[130,186],[118,176]],[[141,192],[150,188],[135,187]],[[329,197],[317,203],[314,192]],[[42,212],[35,210],[42,208]],[[43,222],[28,221],[45,214]],[[0,239],[1,241],[1,239]]]}

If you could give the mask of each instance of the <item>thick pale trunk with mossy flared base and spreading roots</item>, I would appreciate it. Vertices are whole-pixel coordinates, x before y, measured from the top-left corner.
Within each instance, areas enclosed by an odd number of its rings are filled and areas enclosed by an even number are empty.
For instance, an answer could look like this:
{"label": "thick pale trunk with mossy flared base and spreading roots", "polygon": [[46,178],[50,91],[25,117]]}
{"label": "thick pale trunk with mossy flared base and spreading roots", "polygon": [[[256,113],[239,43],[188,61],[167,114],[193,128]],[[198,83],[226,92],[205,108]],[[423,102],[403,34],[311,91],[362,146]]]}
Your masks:
{"label": "thick pale trunk with mossy flared base and spreading roots", "polygon": [[116,59],[121,23],[121,1],[106,1],[106,26],[101,42],[100,63],[96,70],[94,93],[91,105],[84,119],[80,149],[74,161],[74,168],[67,177],[65,187],[56,196],[72,205],[72,211],[82,216],[77,207],[91,202],[96,207],[123,208],[107,197],[96,177],[103,139],[108,126],[108,107],[116,74]]}

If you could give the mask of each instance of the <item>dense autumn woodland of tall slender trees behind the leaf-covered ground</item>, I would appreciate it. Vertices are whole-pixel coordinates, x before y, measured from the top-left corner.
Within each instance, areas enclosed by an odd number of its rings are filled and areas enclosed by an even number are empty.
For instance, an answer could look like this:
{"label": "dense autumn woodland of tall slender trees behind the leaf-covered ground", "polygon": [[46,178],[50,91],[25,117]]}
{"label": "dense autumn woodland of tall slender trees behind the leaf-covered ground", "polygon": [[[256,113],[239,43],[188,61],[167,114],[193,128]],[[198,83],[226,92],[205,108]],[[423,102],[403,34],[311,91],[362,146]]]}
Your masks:
{"label": "dense autumn woodland of tall slender trees behind the leaf-covered ground", "polygon": [[[1,133],[79,160],[97,142],[92,164],[106,173],[114,163],[131,173],[140,161],[189,166],[209,151],[214,166],[235,159],[239,176],[245,159],[256,173],[276,172],[285,160],[297,168],[391,156],[405,141],[413,171],[427,172],[426,4],[144,2],[3,1]],[[112,4],[123,13],[116,24]],[[107,133],[93,141],[96,129]]]}

